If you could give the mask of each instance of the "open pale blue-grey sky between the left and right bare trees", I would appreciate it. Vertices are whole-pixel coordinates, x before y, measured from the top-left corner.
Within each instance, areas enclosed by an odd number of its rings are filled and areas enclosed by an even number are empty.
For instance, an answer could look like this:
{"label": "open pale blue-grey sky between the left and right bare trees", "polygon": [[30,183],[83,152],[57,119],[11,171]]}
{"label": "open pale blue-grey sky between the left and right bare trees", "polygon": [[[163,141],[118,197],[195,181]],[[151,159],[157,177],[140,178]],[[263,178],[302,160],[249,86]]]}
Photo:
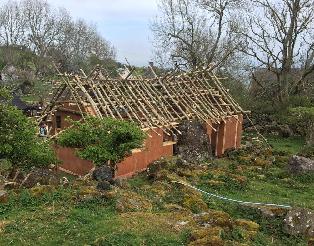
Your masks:
{"label": "open pale blue-grey sky between the left and right bare trees", "polygon": [[[137,67],[148,66],[151,45],[148,40],[149,16],[158,12],[155,0],[47,0],[53,7],[64,6],[73,19],[97,22],[100,33],[118,50],[118,61],[124,57]],[[0,0],[0,4],[6,2]]]}

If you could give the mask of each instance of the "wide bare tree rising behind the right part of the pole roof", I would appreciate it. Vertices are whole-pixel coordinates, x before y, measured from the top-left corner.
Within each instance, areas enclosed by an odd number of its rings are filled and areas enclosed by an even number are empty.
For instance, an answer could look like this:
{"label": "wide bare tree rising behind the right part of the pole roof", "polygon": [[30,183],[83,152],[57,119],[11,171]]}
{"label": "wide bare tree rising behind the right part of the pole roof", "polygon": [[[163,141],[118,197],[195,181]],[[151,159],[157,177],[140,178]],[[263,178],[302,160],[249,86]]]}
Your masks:
{"label": "wide bare tree rising behind the right part of the pole roof", "polygon": [[[160,0],[161,17],[150,19],[154,58],[163,65],[195,68],[203,60],[219,63],[240,56],[239,34],[231,31],[233,14],[242,0]],[[239,26],[239,25],[234,25]],[[239,57],[238,57],[239,58]],[[230,62],[235,64],[235,62]],[[222,65],[223,66],[223,65]]]}

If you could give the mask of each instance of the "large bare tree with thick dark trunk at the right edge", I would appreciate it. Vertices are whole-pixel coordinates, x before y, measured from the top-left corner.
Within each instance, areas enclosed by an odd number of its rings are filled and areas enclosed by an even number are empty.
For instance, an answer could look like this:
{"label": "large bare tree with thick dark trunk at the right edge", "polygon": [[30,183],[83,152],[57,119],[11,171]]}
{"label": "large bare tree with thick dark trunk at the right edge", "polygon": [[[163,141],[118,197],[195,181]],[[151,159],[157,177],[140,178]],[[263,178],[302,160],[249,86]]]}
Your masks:
{"label": "large bare tree with thick dark trunk at the right edge", "polygon": [[[240,29],[246,31],[239,32],[245,40],[243,51],[251,57],[252,70],[264,68],[276,78],[270,86],[252,71],[253,80],[276,105],[313,83],[309,75],[314,71],[314,1],[251,0],[246,6],[246,24]],[[299,75],[291,82],[291,68],[301,61]]]}

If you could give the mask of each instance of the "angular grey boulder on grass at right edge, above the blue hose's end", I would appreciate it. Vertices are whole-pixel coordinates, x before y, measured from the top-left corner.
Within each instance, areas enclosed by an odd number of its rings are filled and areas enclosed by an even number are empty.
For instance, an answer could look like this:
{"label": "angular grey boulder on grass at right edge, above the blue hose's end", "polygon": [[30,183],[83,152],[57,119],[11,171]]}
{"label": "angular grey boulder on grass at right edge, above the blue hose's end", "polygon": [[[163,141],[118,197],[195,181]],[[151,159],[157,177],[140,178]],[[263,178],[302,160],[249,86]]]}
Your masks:
{"label": "angular grey boulder on grass at right edge, above the blue hose's end", "polygon": [[314,161],[310,158],[291,156],[288,161],[288,174],[314,173]]}

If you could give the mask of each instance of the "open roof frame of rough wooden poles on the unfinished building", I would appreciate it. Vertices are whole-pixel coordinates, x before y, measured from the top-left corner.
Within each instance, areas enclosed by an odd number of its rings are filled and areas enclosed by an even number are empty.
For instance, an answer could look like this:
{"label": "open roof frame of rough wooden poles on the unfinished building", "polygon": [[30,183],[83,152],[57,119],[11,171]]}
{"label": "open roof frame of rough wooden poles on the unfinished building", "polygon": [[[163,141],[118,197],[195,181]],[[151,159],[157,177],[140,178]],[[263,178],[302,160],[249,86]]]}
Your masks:
{"label": "open roof frame of rough wooden poles on the unfinished building", "polygon": [[[91,107],[95,115],[117,116],[120,119],[129,119],[138,122],[142,129],[160,128],[166,134],[180,133],[174,123],[178,120],[198,119],[203,120],[214,131],[207,121],[216,124],[226,122],[228,116],[246,114],[224,88],[221,79],[212,71],[211,65],[195,68],[193,71],[169,72],[158,77],[153,69],[155,78],[132,76],[135,67],[126,78],[111,78],[110,74],[102,67],[95,66],[86,75],[62,74],[55,66],[60,80],[54,81],[57,92],[44,109],[40,120],[51,114],[62,104],[77,105],[77,114],[89,114],[87,107]],[[164,130],[165,129],[165,130]],[[156,132],[157,133],[157,132]],[[157,133],[158,134],[158,133]]]}

